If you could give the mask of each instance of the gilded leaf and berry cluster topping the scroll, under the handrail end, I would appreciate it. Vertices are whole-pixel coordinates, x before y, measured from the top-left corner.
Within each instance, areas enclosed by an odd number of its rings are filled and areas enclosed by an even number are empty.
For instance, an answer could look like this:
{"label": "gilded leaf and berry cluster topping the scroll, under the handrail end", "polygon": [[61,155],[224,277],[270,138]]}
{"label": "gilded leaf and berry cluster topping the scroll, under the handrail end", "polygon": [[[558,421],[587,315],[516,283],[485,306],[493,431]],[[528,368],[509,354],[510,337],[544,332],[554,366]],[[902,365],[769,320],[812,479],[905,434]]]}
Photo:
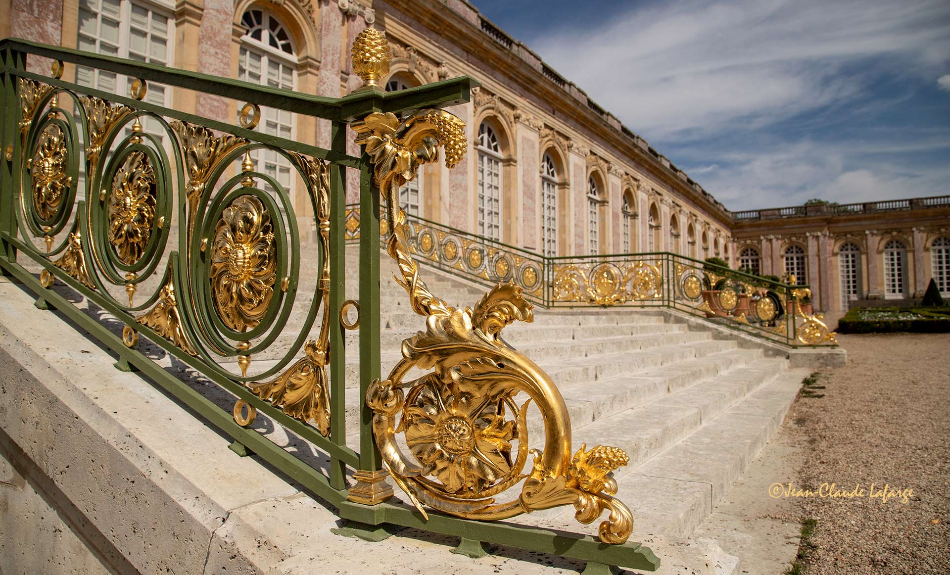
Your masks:
{"label": "gilded leaf and berry cluster topping the scroll, under the handrail end", "polygon": [[386,198],[389,229],[395,228],[399,188],[415,178],[419,166],[439,160],[446,148],[446,166],[455,167],[466,153],[465,123],[440,109],[423,109],[400,122],[395,114],[373,112],[353,122],[356,144],[366,146],[374,180]]}

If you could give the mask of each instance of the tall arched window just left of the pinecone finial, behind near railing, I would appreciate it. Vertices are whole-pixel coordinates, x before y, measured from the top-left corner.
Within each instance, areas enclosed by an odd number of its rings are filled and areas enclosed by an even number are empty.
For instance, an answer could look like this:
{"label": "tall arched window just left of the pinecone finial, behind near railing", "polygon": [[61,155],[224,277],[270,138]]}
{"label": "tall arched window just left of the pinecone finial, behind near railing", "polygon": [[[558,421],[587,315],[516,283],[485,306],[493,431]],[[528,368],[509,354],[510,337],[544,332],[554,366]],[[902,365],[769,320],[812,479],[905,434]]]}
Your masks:
{"label": "tall arched window just left of the pinecone finial, behind near railing", "polygon": [[[237,77],[240,80],[293,90],[296,87],[297,57],[294,41],[283,24],[267,10],[252,8],[241,17],[244,35],[241,37]],[[260,106],[261,132],[294,139],[294,114],[287,110]],[[291,164],[271,149],[251,152],[255,169],[274,178],[287,190],[294,201],[294,182]],[[266,186],[266,184],[265,184]]]}

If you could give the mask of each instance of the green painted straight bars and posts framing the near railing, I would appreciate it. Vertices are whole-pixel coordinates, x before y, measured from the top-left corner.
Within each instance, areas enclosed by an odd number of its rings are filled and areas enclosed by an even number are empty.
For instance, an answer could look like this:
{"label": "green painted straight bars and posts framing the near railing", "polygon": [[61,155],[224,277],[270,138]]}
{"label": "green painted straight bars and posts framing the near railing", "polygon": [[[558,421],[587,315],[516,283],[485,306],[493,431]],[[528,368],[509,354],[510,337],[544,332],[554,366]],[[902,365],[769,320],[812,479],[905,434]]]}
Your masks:
{"label": "green painted straight bars and posts framing the near railing", "polygon": [[[167,86],[178,86],[238,101],[289,109],[296,113],[324,118],[332,123],[331,148],[328,150],[266,136],[253,130],[28,72],[26,70],[27,54],[82,66],[99,67],[131,77],[142,78],[146,81],[159,82]],[[276,470],[285,473],[304,488],[336,507],[339,516],[344,519],[372,526],[392,524],[402,527],[417,527],[434,533],[462,537],[467,540],[553,553],[588,561],[591,565],[622,565],[644,570],[656,570],[658,568],[659,560],[656,559],[650,549],[634,542],[608,546],[589,535],[539,527],[524,527],[504,522],[470,521],[435,511],[429,512],[429,519],[426,521],[417,510],[400,505],[398,500],[372,507],[352,503],[347,500],[347,470],[379,470],[381,460],[372,440],[372,414],[365,405],[360,412],[359,450],[353,450],[346,445],[346,371],[344,369],[332,369],[330,372],[333,418],[330,437],[326,438],[313,427],[284,414],[272,406],[270,402],[259,399],[257,395],[251,393],[238,380],[225,377],[214,370],[209,370],[205,361],[182,352],[180,348],[158,335],[154,330],[138,324],[131,313],[117,308],[109,297],[85,287],[80,281],[66,274],[64,270],[52,265],[48,259],[30,258],[41,264],[54,278],[66,284],[90,302],[103,308],[123,324],[134,326],[136,330],[161,347],[167,354],[174,355],[185,365],[203,374],[222,389],[247,402],[259,412],[271,417],[277,424],[327,453],[331,457],[331,467],[329,473],[324,475],[257,431],[237,425],[230,412],[221,410],[210,399],[192,389],[175,375],[166,372],[149,357],[142,355],[134,348],[126,347],[120,335],[110,331],[94,317],[86,315],[83,310],[75,307],[57,291],[45,288],[38,278],[17,262],[18,255],[31,256],[34,251],[32,246],[28,246],[24,240],[17,237],[18,222],[16,214],[18,207],[15,199],[20,189],[20,174],[22,173],[22,166],[20,165],[21,143],[17,128],[20,118],[17,78],[27,78],[46,83],[49,86],[75,90],[113,103],[127,105],[133,109],[152,112],[192,124],[204,125],[252,142],[294,150],[325,160],[330,163],[331,221],[343,222],[345,220],[346,186],[344,170],[348,167],[358,168],[360,171],[361,211],[372,215],[361,222],[365,226],[363,229],[371,233],[363,234],[360,241],[359,393],[361,396],[365,396],[372,380],[378,378],[381,374],[379,349],[380,252],[379,243],[376,240],[379,230],[379,190],[373,185],[371,163],[366,154],[362,153],[359,158],[354,158],[346,153],[346,135],[349,122],[354,118],[361,118],[374,111],[399,113],[420,107],[467,102],[470,87],[477,86],[473,80],[463,77],[395,93],[360,92],[339,99],[320,98],[196,72],[142,64],[17,39],[0,40],[0,75],[2,75],[4,109],[7,112],[2,120],[2,132],[0,134],[2,134],[3,148],[6,149],[7,145],[12,145],[14,149],[13,160],[4,160],[2,166],[0,166],[0,273],[22,282],[28,291],[36,295],[38,307],[59,310],[64,316],[100,341],[108,350],[117,355],[117,368],[138,370],[142,375],[178,398],[209,425],[231,437],[235,442],[232,447],[236,451],[253,451],[265,462],[274,466]],[[82,209],[82,202],[80,202],[79,210]],[[341,323],[336,320],[336,313],[338,313],[343,300],[346,298],[346,259],[344,250],[344,226],[331,225],[330,309],[332,312],[330,317],[332,322],[330,326],[330,354],[333,358],[333,365],[338,366],[345,365],[347,353],[346,334]],[[177,253],[172,252],[171,258],[177,258]],[[179,280],[179,290],[181,287]]]}

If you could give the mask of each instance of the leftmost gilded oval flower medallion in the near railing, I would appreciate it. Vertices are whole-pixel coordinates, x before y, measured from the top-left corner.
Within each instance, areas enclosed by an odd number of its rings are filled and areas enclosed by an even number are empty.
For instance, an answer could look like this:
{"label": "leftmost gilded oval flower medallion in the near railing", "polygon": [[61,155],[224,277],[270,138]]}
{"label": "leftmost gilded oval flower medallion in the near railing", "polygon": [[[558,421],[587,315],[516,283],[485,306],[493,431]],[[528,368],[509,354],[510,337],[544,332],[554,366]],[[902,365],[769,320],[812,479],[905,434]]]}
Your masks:
{"label": "leftmost gilded oval flower medallion in the near railing", "polygon": [[29,172],[33,180],[33,207],[42,220],[51,220],[66,198],[72,177],[66,176],[66,135],[49,124],[40,134]]}

